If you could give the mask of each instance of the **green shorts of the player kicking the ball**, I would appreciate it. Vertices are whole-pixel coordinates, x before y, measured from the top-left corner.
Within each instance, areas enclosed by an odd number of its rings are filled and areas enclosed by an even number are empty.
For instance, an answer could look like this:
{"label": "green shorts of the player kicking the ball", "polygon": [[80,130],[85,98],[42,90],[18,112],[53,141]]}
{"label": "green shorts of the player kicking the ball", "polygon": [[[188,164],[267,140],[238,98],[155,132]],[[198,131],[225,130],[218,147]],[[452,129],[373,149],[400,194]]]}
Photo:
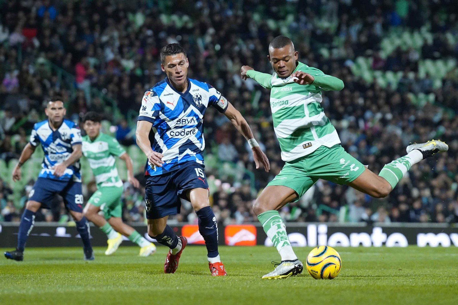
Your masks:
{"label": "green shorts of the player kicking the ball", "polygon": [[267,186],[283,185],[292,188],[300,198],[318,179],[344,185],[358,178],[363,171],[365,166],[339,144],[330,148],[320,146],[310,155],[286,162]]}

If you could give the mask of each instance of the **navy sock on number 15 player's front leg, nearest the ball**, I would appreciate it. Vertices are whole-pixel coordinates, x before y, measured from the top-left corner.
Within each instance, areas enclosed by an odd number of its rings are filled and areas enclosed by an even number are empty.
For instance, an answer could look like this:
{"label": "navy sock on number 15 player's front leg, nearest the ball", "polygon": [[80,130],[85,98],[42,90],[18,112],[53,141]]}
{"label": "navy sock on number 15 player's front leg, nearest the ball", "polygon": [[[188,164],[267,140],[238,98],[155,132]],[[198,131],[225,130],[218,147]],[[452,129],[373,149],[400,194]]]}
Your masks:
{"label": "navy sock on number 15 player's front leg, nearest the ball", "polygon": [[218,224],[216,223],[215,214],[210,207],[202,208],[196,211],[199,217],[199,232],[205,240],[207,246],[207,257],[217,257],[218,253]]}

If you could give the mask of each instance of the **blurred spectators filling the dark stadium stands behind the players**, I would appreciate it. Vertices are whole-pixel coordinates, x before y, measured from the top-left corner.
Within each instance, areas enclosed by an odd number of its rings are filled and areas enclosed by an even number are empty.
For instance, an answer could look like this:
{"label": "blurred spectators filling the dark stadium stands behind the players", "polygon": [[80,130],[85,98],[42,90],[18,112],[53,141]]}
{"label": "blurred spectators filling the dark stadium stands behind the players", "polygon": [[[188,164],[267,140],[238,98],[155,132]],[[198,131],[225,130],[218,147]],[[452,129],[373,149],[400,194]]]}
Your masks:
{"label": "blurred spectators filling the dark stadium stands behind the players", "polygon": [[[299,202],[281,211],[287,221],[458,222],[458,70],[433,86],[431,75],[420,77],[421,59],[458,56],[457,6],[453,0],[292,0],[278,1],[34,1],[0,0],[0,158],[17,159],[33,124],[44,118],[43,105],[55,91],[68,101],[67,117],[77,121],[97,111],[113,123],[117,139],[132,145],[134,125],[144,91],[165,75],[158,52],[167,43],[181,43],[190,62],[189,77],[207,81],[223,92],[250,123],[265,150],[271,171],[255,171],[248,181],[224,181],[216,171],[211,201],[220,222],[255,221],[252,201],[284,162],[273,133],[269,91],[240,79],[241,65],[271,73],[267,46],[278,34],[289,35],[299,60],[344,81],[339,92],[324,92],[322,106],[338,129],[344,148],[378,172],[405,155],[409,142],[440,137],[450,150],[414,166],[387,198],[373,199],[346,186],[319,181]],[[261,18],[259,18],[261,16]],[[290,21],[289,16],[293,16]],[[432,40],[421,48],[396,48],[381,56],[382,38],[390,31],[411,31],[430,25]],[[333,49],[330,56],[317,50]],[[359,56],[371,58],[371,69],[403,72],[397,84],[380,86],[352,73]],[[68,84],[52,63],[75,75]],[[413,73],[413,77],[408,75]],[[116,101],[124,118],[106,111],[102,92]],[[412,94],[433,94],[435,102],[418,104]],[[116,120],[120,119],[119,122]],[[135,124],[135,121],[134,123]],[[253,171],[245,139],[217,112],[205,117],[207,153],[220,162],[234,162]],[[20,202],[11,200],[8,179],[0,180],[1,218],[19,219],[33,182]],[[144,180],[139,171],[137,178]],[[230,184],[228,184],[228,182]],[[95,191],[86,182],[86,196]],[[227,187],[229,185],[229,187]],[[124,218],[144,220],[144,190],[125,184]],[[55,209],[37,216],[67,221],[60,198]],[[196,222],[183,203],[177,221]]]}

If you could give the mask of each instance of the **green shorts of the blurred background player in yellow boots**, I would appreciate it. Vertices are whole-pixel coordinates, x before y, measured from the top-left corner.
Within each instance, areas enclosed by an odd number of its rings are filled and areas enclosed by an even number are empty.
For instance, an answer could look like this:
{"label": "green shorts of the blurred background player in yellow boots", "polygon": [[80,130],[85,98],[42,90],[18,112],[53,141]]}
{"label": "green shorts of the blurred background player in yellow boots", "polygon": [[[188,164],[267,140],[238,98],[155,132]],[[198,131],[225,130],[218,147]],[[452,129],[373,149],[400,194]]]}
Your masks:
{"label": "green shorts of the blurred background player in yellow boots", "polygon": [[122,187],[100,187],[89,198],[87,203],[91,203],[104,212],[105,219],[122,216],[121,195]]}

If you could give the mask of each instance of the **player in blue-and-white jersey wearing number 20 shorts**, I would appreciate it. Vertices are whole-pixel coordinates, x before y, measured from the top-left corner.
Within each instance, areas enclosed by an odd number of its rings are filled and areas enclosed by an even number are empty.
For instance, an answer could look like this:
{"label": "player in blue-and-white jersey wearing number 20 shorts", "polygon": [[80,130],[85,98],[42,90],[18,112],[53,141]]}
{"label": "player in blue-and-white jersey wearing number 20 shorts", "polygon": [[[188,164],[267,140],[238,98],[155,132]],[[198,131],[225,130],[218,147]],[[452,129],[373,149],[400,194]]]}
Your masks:
{"label": "player in blue-and-white jersey wearing number 20 shorts", "polygon": [[15,251],[5,252],[5,257],[23,260],[27,236],[33,228],[35,213],[40,207],[51,207],[55,194],[64,198],[65,208],[70,211],[81,235],[84,259],[93,260],[89,224],[82,214],[82,187],[79,159],[82,156],[81,132],[76,123],[64,119],[66,110],[60,96],[53,98],[45,109],[47,120],[33,126],[30,142],[22,150],[19,162],[13,170],[13,181],[21,179],[21,166],[41,144],[44,151],[42,170],[29,194],[22,214]]}

